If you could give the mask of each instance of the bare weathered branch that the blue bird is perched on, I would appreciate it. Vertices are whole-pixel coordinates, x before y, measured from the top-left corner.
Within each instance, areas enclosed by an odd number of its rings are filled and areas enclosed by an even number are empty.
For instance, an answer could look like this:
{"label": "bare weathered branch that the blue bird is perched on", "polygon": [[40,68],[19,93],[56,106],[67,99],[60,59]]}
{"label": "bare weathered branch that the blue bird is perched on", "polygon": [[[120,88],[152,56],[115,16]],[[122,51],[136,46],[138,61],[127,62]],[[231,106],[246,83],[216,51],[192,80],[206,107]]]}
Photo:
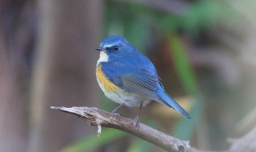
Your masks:
{"label": "bare weathered branch that the blue bird is perched on", "polygon": [[50,107],[54,110],[60,110],[64,113],[77,115],[89,121],[92,126],[98,126],[100,133],[101,126],[118,129],[129,134],[133,134],[143,140],[154,143],[167,151],[189,151],[190,145],[188,141],[178,140],[167,134],[159,132],[143,123],[136,126],[136,122],[130,118],[124,118],[113,113],[108,113],[96,107]]}

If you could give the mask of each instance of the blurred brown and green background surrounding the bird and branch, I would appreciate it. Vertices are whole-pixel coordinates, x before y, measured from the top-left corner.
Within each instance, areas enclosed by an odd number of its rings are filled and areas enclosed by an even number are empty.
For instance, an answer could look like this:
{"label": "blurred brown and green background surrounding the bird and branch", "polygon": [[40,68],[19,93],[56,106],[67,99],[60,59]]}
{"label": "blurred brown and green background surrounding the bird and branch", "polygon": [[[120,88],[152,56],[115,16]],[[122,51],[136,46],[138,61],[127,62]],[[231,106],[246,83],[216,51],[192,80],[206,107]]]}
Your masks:
{"label": "blurred brown and green background surrounding the bird and branch", "polygon": [[[0,2],[1,151],[163,151],[50,106],[117,106],[99,89],[94,47],[121,35],[155,64],[189,121],[157,103],[140,121],[202,150],[225,150],[256,123],[256,1]],[[138,108],[118,113],[134,118]]]}

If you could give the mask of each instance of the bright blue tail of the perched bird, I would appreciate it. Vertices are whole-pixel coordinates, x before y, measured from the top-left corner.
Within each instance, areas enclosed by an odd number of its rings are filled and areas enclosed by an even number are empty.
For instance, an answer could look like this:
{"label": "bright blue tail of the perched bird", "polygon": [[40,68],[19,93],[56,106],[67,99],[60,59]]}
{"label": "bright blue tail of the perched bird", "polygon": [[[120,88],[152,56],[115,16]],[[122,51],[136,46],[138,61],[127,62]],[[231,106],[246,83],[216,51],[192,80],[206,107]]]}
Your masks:
{"label": "bright blue tail of the perched bird", "polygon": [[158,87],[156,90],[157,95],[162,99],[162,101],[157,101],[162,104],[167,105],[168,107],[173,107],[174,110],[177,110],[179,113],[185,117],[192,119],[191,116],[174,100],[172,99],[162,87]]}

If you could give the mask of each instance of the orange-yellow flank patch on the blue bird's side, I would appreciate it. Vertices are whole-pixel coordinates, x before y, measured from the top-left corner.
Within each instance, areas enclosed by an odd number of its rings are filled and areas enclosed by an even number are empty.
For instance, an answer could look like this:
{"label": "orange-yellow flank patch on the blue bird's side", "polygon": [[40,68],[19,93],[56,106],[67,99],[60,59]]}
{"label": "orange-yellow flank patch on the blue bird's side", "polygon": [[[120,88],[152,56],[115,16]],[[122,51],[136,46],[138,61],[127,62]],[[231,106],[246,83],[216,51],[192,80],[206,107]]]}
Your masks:
{"label": "orange-yellow flank patch on the blue bird's side", "polygon": [[105,77],[104,73],[102,72],[102,65],[99,64],[96,69],[96,76],[99,80],[99,83],[105,88],[105,91],[116,91],[120,90],[118,86],[116,86],[114,83],[111,83],[110,80],[108,80],[107,77]]}

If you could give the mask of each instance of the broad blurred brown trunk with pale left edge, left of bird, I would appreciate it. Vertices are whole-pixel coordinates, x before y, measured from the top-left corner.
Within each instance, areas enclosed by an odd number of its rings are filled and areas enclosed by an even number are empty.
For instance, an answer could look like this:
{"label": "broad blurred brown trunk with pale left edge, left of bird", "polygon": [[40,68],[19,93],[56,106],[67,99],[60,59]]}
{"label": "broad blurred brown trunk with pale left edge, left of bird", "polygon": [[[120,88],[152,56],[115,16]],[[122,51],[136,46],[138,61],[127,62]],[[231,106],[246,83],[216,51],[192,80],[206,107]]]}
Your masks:
{"label": "broad blurred brown trunk with pale left edge, left of bird", "polygon": [[29,151],[58,151],[90,134],[90,128],[79,132],[85,129],[82,122],[50,113],[48,106],[97,104],[94,64],[98,55],[94,47],[101,33],[102,1],[38,2],[42,16],[31,87]]}

